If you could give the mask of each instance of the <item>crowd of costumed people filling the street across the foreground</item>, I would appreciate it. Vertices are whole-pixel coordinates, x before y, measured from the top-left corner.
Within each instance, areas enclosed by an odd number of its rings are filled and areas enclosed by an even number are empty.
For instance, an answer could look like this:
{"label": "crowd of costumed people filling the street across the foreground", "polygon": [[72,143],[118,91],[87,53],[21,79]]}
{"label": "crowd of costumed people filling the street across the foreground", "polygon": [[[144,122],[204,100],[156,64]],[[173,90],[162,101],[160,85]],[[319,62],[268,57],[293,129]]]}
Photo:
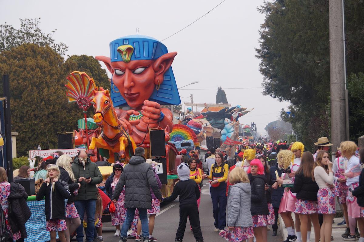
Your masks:
{"label": "crowd of costumed people filling the street across the foreground", "polygon": [[[183,240],[189,219],[196,241],[202,242],[198,208],[206,179],[213,205],[211,231],[227,241],[268,241],[269,225],[277,236],[278,215],[287,230],[285,242],[309,241],[312,225],[315,242],[331,241],[337,200],[344,215],[341,224],[346,224],[342,239],[363,242],[364,149],[359,150],[352,141],[341,142],[331,161],[328,139],[318,138],[315,145],[317,150],[311,153],[301,142],[245,142],[237,147],[234,157],[220,148],[211,147],[205,155],[200,150],[187,154],[183,149],[179,179],[166,198],[162,198],[162,184],[155,171],[157,163],[145,159],[143,148],[135,150],[127,165],[116,162],[112,166],[103,190],[97,186],[103,181],[102,174],[85,151],[73,160],[55,153],[34,175],[44,179],[36,199],[45,199],[46,229],[52,242],[56,232],[60,241],[69,242],[75,231],[78,242],[84,241],[84,231],[85,241],[102,242],[104,211],[111,213],[119,242],[128,238],[149,242],[157,241],[152,234],[161,202],[179,197],[175,241]],[[16,178],[29,177],[27,169],[22,167]],[[27,238],[24,225],[30,217],[25,190],[7,182],[4,168],[0,168],[0,189],[6,229],[14,240],[23,241]],[[13,207],[24,212],[16,214]]]}

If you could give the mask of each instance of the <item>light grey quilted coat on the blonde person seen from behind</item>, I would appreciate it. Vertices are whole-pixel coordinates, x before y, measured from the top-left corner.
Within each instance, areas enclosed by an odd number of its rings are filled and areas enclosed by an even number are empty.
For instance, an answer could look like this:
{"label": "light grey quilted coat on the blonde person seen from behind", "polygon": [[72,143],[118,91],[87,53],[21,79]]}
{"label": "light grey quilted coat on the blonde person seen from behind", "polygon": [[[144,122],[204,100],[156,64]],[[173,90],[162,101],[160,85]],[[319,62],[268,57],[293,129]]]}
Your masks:
{"label": "light grey quilted coat on the blonde person seen from behind", "polygon": [[250,196],[252,189],[249,183],[239,182],[230,186],[227,197],[227,226],[253,226],[250,213]]}

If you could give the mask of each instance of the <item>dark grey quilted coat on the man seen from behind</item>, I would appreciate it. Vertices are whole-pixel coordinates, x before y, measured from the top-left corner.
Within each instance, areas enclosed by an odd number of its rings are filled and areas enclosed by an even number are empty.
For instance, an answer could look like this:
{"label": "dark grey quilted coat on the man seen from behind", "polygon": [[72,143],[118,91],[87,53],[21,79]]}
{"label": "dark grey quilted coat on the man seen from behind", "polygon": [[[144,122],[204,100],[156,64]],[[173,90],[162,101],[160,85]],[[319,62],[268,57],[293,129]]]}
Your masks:
{"label": "dark grey quilted coat on the man seen from behind", "polygon": [[142,156],[132,156],[129,164],[124,166],[118,184],[116,184],[111,200],[118,199],[125,186],[125,208],[152,208],[150,188],[155,197],[162,198],[153,168]]}

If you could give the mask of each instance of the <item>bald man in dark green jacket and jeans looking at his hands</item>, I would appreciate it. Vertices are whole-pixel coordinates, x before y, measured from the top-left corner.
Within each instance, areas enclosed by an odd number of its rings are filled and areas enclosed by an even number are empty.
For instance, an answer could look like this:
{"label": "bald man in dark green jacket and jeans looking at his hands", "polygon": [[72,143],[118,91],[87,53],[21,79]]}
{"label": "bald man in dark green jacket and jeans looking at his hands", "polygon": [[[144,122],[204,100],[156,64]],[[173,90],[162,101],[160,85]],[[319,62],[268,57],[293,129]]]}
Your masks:
{"label": "bald man in dark green jacket and jeans looking at his hands", "polygon": [[96,199],[99,192],[96,184],[102,182],[102,174],[96,163],[91,162],[87,153],[81,150],[72,164],[77,182],[81,184],[75,197],[75,206],[80,215],[81,225],[76,229],[77,241],[83,242],[83,217],[87,214],[86,242],[94,241]]}

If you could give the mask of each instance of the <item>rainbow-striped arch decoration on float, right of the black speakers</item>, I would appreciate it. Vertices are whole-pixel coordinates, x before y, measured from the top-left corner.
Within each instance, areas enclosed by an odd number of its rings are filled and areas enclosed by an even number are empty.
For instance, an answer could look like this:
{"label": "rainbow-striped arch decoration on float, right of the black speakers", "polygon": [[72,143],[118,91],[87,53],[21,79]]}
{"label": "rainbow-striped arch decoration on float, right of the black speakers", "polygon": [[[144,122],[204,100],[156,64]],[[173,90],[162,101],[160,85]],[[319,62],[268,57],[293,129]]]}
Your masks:
{"label": "rainbow-striped arch decoration on float, right of the black speakers", "polygon": [[175,144],[178,150],[182,142],[189,142],[189,140],[191,140],[191,143],[193,142],[193,145],[195,147],[200,146],[200,142],[198,142],[195,132],[186,125],[182,124],[173,125],[173,130],[169,135],[170,135],[169,141]]}

